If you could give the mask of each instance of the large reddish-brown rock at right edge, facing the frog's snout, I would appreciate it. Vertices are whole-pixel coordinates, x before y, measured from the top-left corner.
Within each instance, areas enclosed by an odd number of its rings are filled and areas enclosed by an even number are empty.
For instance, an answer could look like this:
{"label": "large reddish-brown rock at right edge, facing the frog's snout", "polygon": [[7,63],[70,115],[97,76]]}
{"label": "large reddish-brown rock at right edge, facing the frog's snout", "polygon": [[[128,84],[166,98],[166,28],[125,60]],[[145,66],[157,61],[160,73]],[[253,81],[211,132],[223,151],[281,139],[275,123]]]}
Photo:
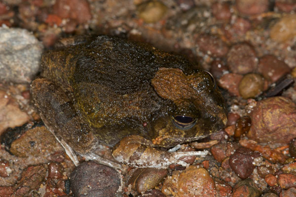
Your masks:
{"label": "large reddish-brown rock at right edge, facing the frog's snout", "polygon": [[251,113],[250,139],[259,143],[288,144],[296,138],[296,104],[285,97],[271,97],[257,102]]}

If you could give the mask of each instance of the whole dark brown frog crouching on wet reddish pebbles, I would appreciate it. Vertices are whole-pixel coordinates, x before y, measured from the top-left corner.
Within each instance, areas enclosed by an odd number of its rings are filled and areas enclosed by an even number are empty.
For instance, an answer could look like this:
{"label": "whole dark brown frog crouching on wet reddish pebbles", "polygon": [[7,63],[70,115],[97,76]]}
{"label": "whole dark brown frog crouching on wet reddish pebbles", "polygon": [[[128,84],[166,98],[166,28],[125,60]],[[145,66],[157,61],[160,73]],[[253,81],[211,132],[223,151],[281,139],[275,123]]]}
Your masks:
{"label": "whole dark brown frog crouching on wet reddish pebbles", "polygon": [[[31,94],[75,165],[76,154],[115,168],[187,165],[184,153],[166,150],[227,123],[213,76],[183,56],[108,35],[59,43],[43,53]],[[113,147],[118,163],[95,155],[99,144]]]}

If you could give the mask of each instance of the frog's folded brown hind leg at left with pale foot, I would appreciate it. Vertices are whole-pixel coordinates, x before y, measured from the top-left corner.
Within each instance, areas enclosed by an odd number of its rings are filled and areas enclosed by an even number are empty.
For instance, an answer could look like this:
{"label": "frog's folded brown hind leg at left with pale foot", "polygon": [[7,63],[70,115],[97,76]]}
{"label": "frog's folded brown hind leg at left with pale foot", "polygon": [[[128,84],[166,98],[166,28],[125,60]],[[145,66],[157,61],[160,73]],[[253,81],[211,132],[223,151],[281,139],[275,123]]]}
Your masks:
{"label": "frog's folded brown hind leg at left with pale foot", "polygon": [[101,164],[121,168],[120,164],[91,153],[97,146],[97,140],[88,126],[81,123],[72,101],[60,87],[48,79],[38,78],[32,82],[31,92],[45,126],[61,143],[75,165],[79,162],[74,151],[86,159],[95,159]]}

